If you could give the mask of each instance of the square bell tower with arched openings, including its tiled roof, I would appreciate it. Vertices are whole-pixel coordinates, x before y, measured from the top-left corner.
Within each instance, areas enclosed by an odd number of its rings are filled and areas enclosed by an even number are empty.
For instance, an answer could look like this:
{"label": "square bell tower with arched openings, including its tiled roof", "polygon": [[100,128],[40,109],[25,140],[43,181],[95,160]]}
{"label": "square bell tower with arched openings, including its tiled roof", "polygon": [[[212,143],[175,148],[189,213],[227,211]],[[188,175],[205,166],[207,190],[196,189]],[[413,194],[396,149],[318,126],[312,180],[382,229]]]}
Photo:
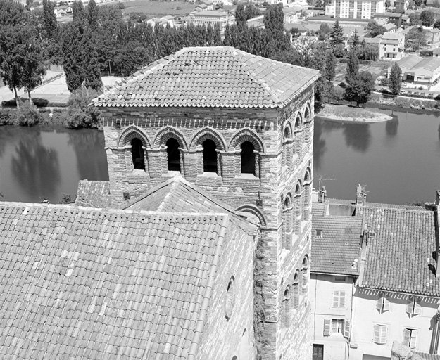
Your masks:
{"label": "square bell tower with arched openings, including its tiled roof", "polygon": [[263,359],[311,356],[310,193],[318,76],[233,48],[187,48],[95,101],[104,116],[113,203],[123,206],[183,176],[258,217],[255,340]]}

